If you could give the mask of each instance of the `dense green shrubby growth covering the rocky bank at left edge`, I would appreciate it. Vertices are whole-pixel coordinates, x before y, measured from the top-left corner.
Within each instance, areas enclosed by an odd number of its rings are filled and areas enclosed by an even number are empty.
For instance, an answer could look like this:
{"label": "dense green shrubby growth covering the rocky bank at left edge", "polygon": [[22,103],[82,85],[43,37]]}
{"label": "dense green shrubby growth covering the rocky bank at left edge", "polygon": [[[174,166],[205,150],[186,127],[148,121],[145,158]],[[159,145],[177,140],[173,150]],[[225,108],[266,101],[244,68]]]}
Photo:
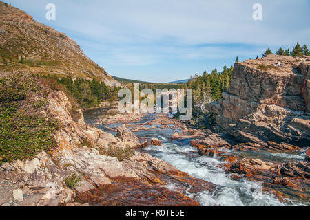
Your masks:
{"label": "dense green shrubby growth covering the rocky bank at left edge", "polygon": [[32,159],[57,146],[60,123],[44,115],[49,92],[26,74],[0,76],[0,164]]}

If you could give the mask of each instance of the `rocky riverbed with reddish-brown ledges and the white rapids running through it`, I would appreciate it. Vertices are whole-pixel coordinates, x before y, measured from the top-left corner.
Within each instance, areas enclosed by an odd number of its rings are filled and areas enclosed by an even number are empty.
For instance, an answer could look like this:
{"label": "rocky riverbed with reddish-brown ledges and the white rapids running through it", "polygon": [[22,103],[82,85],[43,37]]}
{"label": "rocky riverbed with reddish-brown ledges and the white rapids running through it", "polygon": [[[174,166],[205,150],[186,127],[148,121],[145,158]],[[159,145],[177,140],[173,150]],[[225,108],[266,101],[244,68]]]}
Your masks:
{"label": "rocky riverbed with reddish-brown ledges and the white rapids running through it", "polygon": [[[86,111],[86,122],[96,123],[97,115]],[[307,148],[274,142],[240,143],[230,135],[193,129],[161,114],[98,127],[116,134],[122,126],[139,138],[136,151],[163,159],[212,184],[212,190],[181,189],[183,184],[167,181],[170,190],[181,190],[203,206],[309,205]]]}

